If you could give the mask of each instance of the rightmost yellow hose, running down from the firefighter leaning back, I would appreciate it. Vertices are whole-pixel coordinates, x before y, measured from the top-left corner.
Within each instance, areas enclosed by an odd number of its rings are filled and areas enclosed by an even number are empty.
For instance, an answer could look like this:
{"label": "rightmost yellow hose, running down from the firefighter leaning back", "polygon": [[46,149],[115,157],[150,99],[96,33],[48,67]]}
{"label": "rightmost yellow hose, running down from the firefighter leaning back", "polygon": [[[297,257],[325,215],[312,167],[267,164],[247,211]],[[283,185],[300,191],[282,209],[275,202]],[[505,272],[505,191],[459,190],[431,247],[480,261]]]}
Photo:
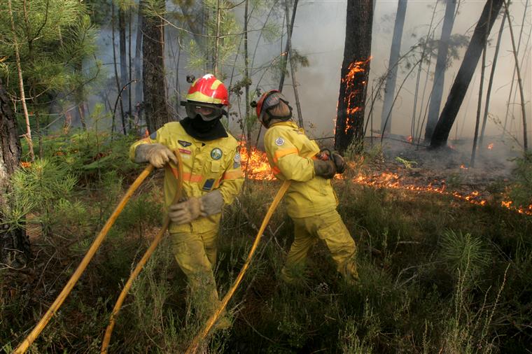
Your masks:
{"label": "rightmost yellow hose, running down from the firefighter leaning back", "polygon": [[268,225],[269,219],[272,218],[272,215],[279,204],[279,201],[283,198],[284,193],[286,190],[288,190],[288,187],[290,186],[290,180],[285,180],[281,187],[279,188],[279,191],[277,192],[274,200],[272,201],[272,205],[269,206],[268,211],[266,213],[266,216],[264,217],[264,220],[262,220],[262,225],[260,225],[260,229],[258,230],[258,234],[255,237],[255,241],[253,242],[253,246],[251,246],[251,250],[249,250],[248,257],[246,259],[246,262],[244,262],[244,266],[242,266],[242,269],[240,270],[240,273],[237,276],[237,279],[235,280],[235,283],[233,283],[232,287],[228,291],[228,293],[223,297],[222,302],[220,306],[218,307],[218,310],[207,320],[207,325],[203,328],[203,330],[197,334],[197,336],[193,339],[190,346],[188,346],[186,354],[193,354],[196,353],[197,347],[200,344],[200,341],[205,339],[207,337],[207,334],[209,334],[209,331],[211,330],[214,323],[216,323],[216,320],[218,320],[218,317],[220,317],[222,311],[225,309],[225,306],[227,306],[229,300],[231,299],[232,295],[235,293],[235,290],[237,290],[238,285],[240,284],[240,281],[242,278],[244,278],[244,274],[246,273],[246,270],[249,267],[249,264],[251,263],[251,259],[253,258],[253,253],[255,253],[255,250],[258,247],[258,243],[260,242],[260,239],[262,238],[262,233],[266,229],[266,225]]}

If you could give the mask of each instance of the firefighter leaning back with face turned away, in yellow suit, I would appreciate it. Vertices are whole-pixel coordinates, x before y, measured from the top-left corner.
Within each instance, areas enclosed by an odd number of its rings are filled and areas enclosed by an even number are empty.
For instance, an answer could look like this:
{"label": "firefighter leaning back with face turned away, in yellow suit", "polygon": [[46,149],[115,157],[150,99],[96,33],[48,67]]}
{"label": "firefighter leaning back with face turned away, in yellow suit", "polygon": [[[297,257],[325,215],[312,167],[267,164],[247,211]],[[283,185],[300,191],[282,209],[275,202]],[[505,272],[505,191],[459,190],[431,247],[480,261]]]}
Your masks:
{"label": "firefighter leaning back with face turned away, in yellow suit", "polygon": [[356,246],[336,211],[338,201],[331,185],[331,178],[345,170],[342,156],[320,150],[307,138],[292,121],[292,107],[278,90],[262,94],[255,104],[258,120],[268,129],[264,145],[269,165],[276,178],[292,181],[285,199],[294,222],[294,241],[281,278],[296,283],[309,249],[323,240],[339,273],[348,283],[355,283]]}

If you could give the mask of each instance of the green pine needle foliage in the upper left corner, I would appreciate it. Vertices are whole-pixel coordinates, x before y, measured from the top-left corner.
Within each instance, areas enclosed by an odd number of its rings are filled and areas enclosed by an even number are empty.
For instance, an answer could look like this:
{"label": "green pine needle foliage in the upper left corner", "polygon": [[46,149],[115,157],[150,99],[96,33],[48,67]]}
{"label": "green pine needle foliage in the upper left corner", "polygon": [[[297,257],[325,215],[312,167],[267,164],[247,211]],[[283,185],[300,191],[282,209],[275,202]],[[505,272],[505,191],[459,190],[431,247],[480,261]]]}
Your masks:
{"label": "green pine needle foliage in the upper left corner", "polygon": [[[58,92],[66,96],[85,90],[84,84],[99,71],[83,72],[83,60],[96,48],[97,30],[78,0],[12,0],[13,22],[7,1],[0,4],[0,66],[6,90],[19,99],[15,48],[25,82],[29,111],[43,111]],[[92,71],[92,72],[91,72]],[[93,76],[90,76],[93,75]],[[78,97],[79,99],[79,97]]]}

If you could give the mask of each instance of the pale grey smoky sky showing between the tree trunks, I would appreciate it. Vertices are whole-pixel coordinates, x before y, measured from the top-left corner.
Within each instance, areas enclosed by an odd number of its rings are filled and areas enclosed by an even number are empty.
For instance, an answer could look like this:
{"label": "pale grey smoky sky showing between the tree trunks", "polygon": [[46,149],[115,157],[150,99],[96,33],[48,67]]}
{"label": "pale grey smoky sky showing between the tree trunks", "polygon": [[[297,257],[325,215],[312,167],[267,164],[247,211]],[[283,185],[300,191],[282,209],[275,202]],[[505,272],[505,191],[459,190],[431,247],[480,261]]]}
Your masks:
{"label": "pale grey smoky sky showing between the tree trunks", "polygon": [[[519,32],[521,31],[521,21],[524,11],[525,1],[512,1],[510,6],[510,14],[512,17],[512,27],[514,30],[515,40],[517,41]],[[454,20],[452,34],[463,34],[467,36],[472,35],[475,24],[479,19],[485,1],[462,0],[460,1],[458,12]],[[377,0],[374,12],[374,21],[372,29],[372,60],[370,64],[370,80],[367,87],[367,95],[370,97],[374,93],[374,85],[377,84],[377,78],[386,73],[388,67],[388,59],[391,48],[391,38],[393,35],[393,26],[395,22],[395,13],[397,11],[397,0]],[[283,6],[278,3],[279,9],[277,13],[283,13]],[[419,43],[421,38],[426,38],[430,19],[433,15],[434,8],[435,16],[433,21],[433,37],[435,40],[440,38],[442,20],[445,10],[444,1],[422,0],[407,2],[407,12],[405,18],[405,26],[402,32],[402,43],[400,55],[407,52],[412,45]],[[167,3],[167,8],[173,8],[170,3]],[[530,13],[528,8],[528,13]],[[243,11],[237,10],[237,18],[243,17]],[[489,36],[489,46],[486,51],[486,69],[484,77],[484,96],[482,98],[482,111],[484,110],[485,90],[488,85],[489,73],[491,71],[491,64],[493,62],[493,52],[495,51],[496,38],[498,35],[500,21],[502,16],[499,15],[496,22],[493,24]],[[261,18],[255,18],[255,22],[251,24],[258,25]],[[263,18],[262,18],[263,20]],[[281,25],[282,18],[277,16],[276,19]],[[346,23],[346,1],[335,0],[300,0],[298,3],[297,13],[295,17],[295,25],[293,29],[292,47],[301,55],[304,55],[309,60],[308,67],[300,67],[297,69],[296,81],[297,90],[300,97],[302,115],[305,122],[305,128],[309,135],[314,137],[332,136],[334,130],[334,121],[336,117],[337,99],[339,94],[340,69],[342,65],[344,53],[345,40],[345,23]],[[182,24],[181,24],[182,25]],[[136,28],[135,23],[132,28]],[[524,29],[521,38],[521,46],[519,50],[519,61],[524,56],[525,59],[521,66],[521,76],[524,80],[526,113],[528,116],[528,127],[531,127],[531,75],[530,68],[530,45],[527,44],[528,36],[531,31],[531,16],[527,15],[524,22]],[[170,96],[175,97],[176,94],[176,73],[179,76],[179,89],[181,93],[186,94],[188,83],[186,83],[186,75],[193,73],[199,77],[202,75],[201,71],[193,70],[188,67],[188,55],[186,50],[181,50],[181,59],[179,65],[179,73],[176,67],[176,53],[179,48],[176,42],[176,31],[171,27],[167,27],[165,34],[166,41],[166,70],[167,70],[167,88]],[[286,34],[283,36],[286,39]],[[132,50],[135,48],[135,33],[132,36]],[[254,65],[260,66],[267,64],[272,58],[279,55],[281,52],[280,41],[269,43],[264,38],[257,43],[258,34],[251,32],[249,36],[250,52],[255,52],[256,56]],[[182,48],[186,48],[187,41],[182,41]],[[113,62],[113,54],[111,47],[111,32],[109,27],[102,27],[99,36],[99,59],[106,65],[106,73],[110,77],[113,76],[113,68],[110,63]],[[255,49],[256,46],[256,49]],[[241,48],[242,49],[242,48]],[[118,34],[116,34],[116,50],[118,56]],[[444,92],[442,97],[442,107],[447,100],[449,87],[454,80],[454,76],[461,64],[461,59],[465,48],[459,51],[460,59],[454,60],[449,69],[447,69],[444,80]],[[117,59],[118,61],[119,59]],[[472,83],[468,89],[468,93],[463,100],[460,111],[458,112],[454,127],[451,130],[450,139],[454,137],[468,138],[474,132],[475,119],[477,114],[477,101],[479,98],[479,81],[480,81],[480,66],[482,64],[482,57],[475,70],[475,75],[472,78]],[[427,64],[423,64],[420,87],[418,93],[418,106],[416,108],[416,120],[418,120],[419,112],[424,114],[427,100],[432,89],[433,72],[435,67],[435,58],[433,58],[430,68]],[[120,69],[118,68],[120,71]],[[230,73],[228,66],[223,66],[226,73]],[[507,110],[508,94],[510,93],[510,83],[512,81],[512,71],[514,70],[514,57],[512,55],[512,43],[510,41],[510,31],[508,29],[508,22],[505,24],[503,32],[503,41],[500,45],[498,55],[498,62],[496,65],[496,73],[494,77],[493,88],[491,92],[491,99],[489,105],[490,115],[495,116],[500,120],[504,120]],[[398,87],[407,74],[407,69],[400,66],[398,70],[397,84],[395,93],[397,94]],[[428,73],[428,80],[427,78]],[[416,83],[417,69],[405,81],[405,85],[398,94],[398,99],[395,101],[392,115],[392,133],[393,134],[410,134],[410,125],[412,121],[412,111],[414,102],[414,91]],[[235,71],[235,78],[233,81],[239,80],[242,76],[241,68]],[[253,83],[251,89],[255,87],[260,88],[262,92],[277,88],[278,77],[272,75],[262,76],[258,73],[252,76]],[[517,83],[517,78],[514,79]],[[229,84],[226,80],[226,85]],[[384,85],[382,87],[384,89]],[[515,92],[515,85],[513,91]],[[424,95],[423,95],[424,92]],[[291,78],[285,79],[285,86],[283,94],[288,97],[292,106],[295,108],[293,86]],[[423,97],[424,96],[424,97]],[[421,99],[423,97],[423,102]],[[513,104],[515,102],[516,104]],[[521,111],[520,111],[519,94],[515,96],[512,94],[510,99],[510,115],[508,118],[507,127],[510,132],[518,138],[522,136],[521,132]],[[382,101],[375,101],[373,127],[378,129],[380,125]],[[235,99],[232,99],[232,111],[243,113],[244,107],[238,107]],[[295,111],[295,109],[294,109]],[[369,111],[369,106],[366,107],[366,112]],[[513,114],[512,114],[513,113]],[[482,117],[482,115],[481,115]],[[486,125],[486,134],[496,135],[500,134],[500,125],[488,120]],[[423,133],[422,133],[423,134]],[[530,135],[529,135],[530,136]]]}

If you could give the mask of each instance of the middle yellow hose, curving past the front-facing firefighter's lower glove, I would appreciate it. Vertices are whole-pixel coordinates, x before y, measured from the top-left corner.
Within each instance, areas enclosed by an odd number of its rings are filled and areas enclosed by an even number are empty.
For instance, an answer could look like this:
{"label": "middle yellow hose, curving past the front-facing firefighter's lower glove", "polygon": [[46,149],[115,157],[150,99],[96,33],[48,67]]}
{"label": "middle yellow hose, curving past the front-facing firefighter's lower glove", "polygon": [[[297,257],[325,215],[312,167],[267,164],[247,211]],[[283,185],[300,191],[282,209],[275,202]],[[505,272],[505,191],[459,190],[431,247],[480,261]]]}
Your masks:
{"label": "middle yellow hose, curving past the front-facing firefighter's lower glove", "polygon": [[[175,155],[179,163],[177,165],[177,171],[178,171],[177,172],[177,176],[178,176],[177,190],[176,190],[176,194],[174,195],[173,203],[176,203],[177,201],[179,201],[179,199],[181,198],[181,194],[183,194],[183,178],[182,178],[183,164],[181,163],[181,154],[176,153]],[[168,165],[167,165],[167,168],[169,168]],[[130,291],[133,281],[135,280],[135,278],[137,278],[142,268],[144,267],[144,264],[148,262],[151,255],[153,254],[153,251],[159,245],[162,239],[162,236],[165,234],[169,225],[170,225],[170,218],[168,215],[166,215],[165,221],[162,223],[162,227],[159,230],[157,236],[155,236],[155,239],[153,239],[150,247],[148,248],[148,250],[146,250],[146,253],[144,253],[144,256],[142,256],[141,260],[139,261],[139,264],[137,264],[137,267],[135,267],[135,269],[132,271],[130,278],[127,279],[127,282],[125,283],[122,292],[120,292],[120,296],[116,300],[115,307],[113,308],[113,312],[111,313],[111,318],[109,318],[109,325],[107,325],[107,328],[105,330],[104,340],[102,341],[102,352],[101,352],[102,354],[107,354],[107,348],[109,347],[109,343],[111,341],[111,334],[113,333],[113,328],[115,327],[115,319],[118,316],[118,311],[120,311],[120,308],[122,307],[125,297],[127,296],[127,292]]]}

